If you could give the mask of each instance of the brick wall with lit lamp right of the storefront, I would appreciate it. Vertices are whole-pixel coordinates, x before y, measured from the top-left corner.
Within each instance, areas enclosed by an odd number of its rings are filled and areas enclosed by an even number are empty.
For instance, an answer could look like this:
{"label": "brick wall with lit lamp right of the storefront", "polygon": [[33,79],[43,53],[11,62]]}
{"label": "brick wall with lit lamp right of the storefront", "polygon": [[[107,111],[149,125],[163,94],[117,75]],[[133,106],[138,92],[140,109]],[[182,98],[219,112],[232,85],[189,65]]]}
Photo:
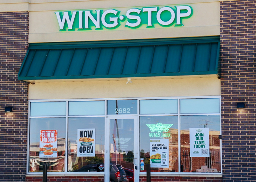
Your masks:
{"label": "brick wall with lit lamp right of the storefront", "polygon": [[[256,179],[256,1],[220,2],[223,181]],[[237,109],[245,102],[245,109]]]}

